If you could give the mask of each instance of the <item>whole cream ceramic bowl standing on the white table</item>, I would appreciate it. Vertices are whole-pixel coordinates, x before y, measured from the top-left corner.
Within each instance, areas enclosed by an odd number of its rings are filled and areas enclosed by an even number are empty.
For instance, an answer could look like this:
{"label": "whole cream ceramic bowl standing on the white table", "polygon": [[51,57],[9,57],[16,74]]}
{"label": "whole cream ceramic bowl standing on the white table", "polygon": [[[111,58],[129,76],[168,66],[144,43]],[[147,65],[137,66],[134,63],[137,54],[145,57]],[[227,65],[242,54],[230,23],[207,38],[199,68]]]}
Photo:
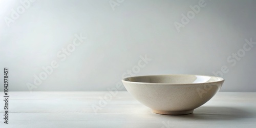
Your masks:
{"label": "whole cream ceramic bowl standing on the white table", "polygon": [[151,75],[122,79],[124,87],[154,113],[184,115],[210,100],[224,79],[204,75]]}

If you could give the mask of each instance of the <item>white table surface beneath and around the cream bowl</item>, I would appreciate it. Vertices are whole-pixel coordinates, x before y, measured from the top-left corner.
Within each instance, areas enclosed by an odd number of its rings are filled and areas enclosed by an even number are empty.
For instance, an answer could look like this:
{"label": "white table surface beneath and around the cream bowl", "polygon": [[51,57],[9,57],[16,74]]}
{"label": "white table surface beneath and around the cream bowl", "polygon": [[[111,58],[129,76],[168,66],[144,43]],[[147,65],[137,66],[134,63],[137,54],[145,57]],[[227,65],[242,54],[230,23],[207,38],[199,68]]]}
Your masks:
{"label": "white table surface beneath and around the cream bowl", "polygon": [[4,124],[1,100],[0,127],[256,127],[256,93],[219,92],[193,114],[169,116],[120,91],[95,113],[92,104],[108,94],[9,92],[9,124]]}

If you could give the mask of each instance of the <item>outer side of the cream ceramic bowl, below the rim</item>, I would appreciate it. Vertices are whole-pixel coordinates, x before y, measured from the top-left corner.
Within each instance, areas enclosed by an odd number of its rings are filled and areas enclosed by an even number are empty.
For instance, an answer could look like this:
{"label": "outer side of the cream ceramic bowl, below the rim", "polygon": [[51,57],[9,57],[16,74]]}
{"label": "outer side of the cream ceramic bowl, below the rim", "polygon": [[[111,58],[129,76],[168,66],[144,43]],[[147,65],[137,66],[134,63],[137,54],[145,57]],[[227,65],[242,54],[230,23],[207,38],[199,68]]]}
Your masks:
{"label": "outer side of the cream ceramic bowl, below the rim", "polygon": [[210,100],[224,80],[209,83],[161,84],[122,80],[126,90],[139,102],[157,111],[194,110]]}

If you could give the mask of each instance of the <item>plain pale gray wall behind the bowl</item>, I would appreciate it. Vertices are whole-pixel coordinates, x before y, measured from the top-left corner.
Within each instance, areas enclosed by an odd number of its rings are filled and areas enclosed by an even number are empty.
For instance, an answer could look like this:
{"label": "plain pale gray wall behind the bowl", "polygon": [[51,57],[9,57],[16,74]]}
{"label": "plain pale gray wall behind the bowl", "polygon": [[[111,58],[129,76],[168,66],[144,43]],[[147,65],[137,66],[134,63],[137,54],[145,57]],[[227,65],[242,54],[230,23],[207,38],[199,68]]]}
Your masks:
{"label": "plain pale gray wall behind the bowl", "polygon": [[[0,1],[0,76],[8,67],[10,91],[106,91],[127,70],[218,75],[221,91],[256,91],[256,1],[22,2]],[[58,67],[44,73],[52,61]]]}

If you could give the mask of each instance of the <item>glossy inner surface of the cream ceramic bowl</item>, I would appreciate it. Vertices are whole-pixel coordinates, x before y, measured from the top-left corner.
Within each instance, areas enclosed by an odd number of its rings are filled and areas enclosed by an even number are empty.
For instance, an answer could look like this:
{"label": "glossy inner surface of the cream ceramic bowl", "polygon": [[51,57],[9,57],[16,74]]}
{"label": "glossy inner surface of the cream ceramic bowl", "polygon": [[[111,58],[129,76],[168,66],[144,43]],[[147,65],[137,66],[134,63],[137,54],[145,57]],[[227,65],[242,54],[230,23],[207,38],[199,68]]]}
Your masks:
{"label": "glossy inner surface of the cream ceramic bowl", "polygon": [[191,84],[207,83],[224,80],[221,77],[203,75],[152,75],[124,78],[124,81],[144,83]]}

